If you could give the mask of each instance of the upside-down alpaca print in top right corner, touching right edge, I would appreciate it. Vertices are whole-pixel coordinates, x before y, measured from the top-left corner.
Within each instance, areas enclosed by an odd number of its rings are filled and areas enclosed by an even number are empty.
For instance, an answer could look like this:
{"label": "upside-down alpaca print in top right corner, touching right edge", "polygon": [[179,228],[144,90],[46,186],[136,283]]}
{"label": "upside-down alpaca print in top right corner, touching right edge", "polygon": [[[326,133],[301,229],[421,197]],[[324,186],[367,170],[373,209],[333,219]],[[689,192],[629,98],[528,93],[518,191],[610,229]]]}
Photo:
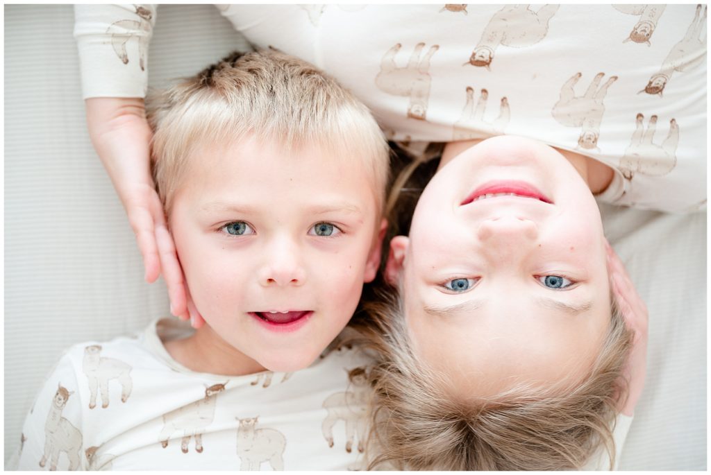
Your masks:
{"label": "upside-down alpaca print in top right corner, touching right edge", "polygon": [[640,91],[647,94],[659,94],[661,97],[664,88],[674,72],[687,72],[701,65],[706,58],[706,35],[701,39],[701,32],[706,26],[706,9],[701,16],[701,5],[696,6],[694,19],[689,25],[682,40],[671,48],[669,54],[662,62],[659,72],[649,78],[647,85]]}

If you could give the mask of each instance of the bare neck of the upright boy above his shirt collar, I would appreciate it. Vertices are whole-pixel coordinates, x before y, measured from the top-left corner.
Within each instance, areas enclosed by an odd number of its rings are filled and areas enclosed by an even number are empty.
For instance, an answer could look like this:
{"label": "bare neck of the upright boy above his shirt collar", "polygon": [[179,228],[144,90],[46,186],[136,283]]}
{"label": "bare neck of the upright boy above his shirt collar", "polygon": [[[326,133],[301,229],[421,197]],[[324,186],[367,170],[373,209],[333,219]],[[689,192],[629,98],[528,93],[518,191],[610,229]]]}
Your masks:
{"label": "bare neck of the upright boy above his shirt collar", "polygon": [[190,337],[171,340],[164,346],[174,360],[198,373],[244,376],[265,371],[257,361],[220,338],[208,324]]}

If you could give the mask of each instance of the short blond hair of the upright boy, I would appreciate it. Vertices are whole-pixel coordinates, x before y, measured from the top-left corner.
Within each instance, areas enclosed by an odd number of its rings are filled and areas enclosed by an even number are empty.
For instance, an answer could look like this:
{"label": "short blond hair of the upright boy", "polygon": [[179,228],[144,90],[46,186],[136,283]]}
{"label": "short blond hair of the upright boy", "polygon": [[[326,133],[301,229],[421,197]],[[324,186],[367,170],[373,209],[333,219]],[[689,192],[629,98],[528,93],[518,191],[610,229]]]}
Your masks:
{"label": "short blond hair of the upright boy", "polygon": [[382,212],[389,166],[383,133],[364,104],[308,62],[277,50],[232,53],[149,94],[146,117],[154,130],[153,174],[166,214],[193,153],[247,138],[284,150],[316,146],[334,160],[361,160]]}

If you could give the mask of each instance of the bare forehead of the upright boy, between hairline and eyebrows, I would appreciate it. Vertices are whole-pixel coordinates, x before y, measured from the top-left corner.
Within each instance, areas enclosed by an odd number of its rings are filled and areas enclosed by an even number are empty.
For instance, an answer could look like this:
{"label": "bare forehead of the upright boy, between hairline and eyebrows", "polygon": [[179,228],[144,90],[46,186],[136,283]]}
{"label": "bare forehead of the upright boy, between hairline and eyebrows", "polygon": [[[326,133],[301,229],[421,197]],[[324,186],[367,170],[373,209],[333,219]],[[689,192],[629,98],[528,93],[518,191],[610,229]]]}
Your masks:
{"label": "bare forehead of the upright boy, between hairline and eyebrows", "polygon": [[330,209],[371,214],[378,212],[383,199],[376,186],[367,164],[348,151],[248,138],[195,146],[176,184],[176,197],[186,195],[201,207],[208,203],[206,207],[217,210],[230,207],[230,202],[246,204],[259,197],[277,202],[279,196],[292,196],[289,207],[306,203],[325,211],[325,200]]}

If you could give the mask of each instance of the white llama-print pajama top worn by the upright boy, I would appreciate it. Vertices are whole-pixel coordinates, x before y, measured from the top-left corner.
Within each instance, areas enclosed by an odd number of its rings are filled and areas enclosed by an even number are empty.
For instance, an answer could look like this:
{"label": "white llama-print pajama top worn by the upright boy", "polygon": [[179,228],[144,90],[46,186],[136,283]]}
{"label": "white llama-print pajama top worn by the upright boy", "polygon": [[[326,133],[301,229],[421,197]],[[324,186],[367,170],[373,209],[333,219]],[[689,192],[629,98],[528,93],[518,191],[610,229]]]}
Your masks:
{"label": "white llama-print pajama top worn by the upright boy", "polygon": [[[369,360],[357,349],[331,351],[294,373],[230,377],[195,373],[171,358],[161,338],[192,331],[156,320],[137,337],[70,347],[18,434],[17,468],[365,468],[365,420],[351,413],[365,414],[368,400],[358,388]],[[349,378],[353,368],[360,377]],[[324,441],[329,417],[338,447]]]}

